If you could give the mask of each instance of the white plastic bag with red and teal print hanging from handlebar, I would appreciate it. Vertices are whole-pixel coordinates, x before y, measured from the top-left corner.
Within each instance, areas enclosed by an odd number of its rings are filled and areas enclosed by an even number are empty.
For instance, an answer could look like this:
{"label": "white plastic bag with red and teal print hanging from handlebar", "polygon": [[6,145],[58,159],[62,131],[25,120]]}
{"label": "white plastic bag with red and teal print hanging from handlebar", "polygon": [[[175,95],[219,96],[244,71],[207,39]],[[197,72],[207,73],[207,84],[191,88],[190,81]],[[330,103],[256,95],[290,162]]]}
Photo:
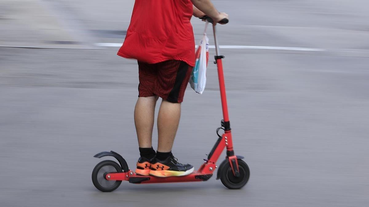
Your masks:
{"label": "white plastic bag with red and teal print hanging from handlebar", "polygon": [[189,80],[191,88],[199,94],[204,92],[206,85],[206,67],[209,60],[209,38],[206,36],[208,23],[209,22],[206,22],[204,35],[196,50],[196,62]]}

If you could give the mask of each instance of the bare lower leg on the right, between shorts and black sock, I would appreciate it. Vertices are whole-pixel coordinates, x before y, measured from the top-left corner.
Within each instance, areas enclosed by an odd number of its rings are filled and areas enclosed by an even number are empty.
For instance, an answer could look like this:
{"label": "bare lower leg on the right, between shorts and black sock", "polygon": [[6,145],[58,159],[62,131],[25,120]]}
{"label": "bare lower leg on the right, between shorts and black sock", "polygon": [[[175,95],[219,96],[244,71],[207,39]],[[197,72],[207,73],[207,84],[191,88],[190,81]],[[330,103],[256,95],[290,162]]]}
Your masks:
{"label": "bare lower leg on the right, between shorts and black sock", "polygon": [[170,152],[181,116],[181,104],[163,99],[158,114],[158,152]]}

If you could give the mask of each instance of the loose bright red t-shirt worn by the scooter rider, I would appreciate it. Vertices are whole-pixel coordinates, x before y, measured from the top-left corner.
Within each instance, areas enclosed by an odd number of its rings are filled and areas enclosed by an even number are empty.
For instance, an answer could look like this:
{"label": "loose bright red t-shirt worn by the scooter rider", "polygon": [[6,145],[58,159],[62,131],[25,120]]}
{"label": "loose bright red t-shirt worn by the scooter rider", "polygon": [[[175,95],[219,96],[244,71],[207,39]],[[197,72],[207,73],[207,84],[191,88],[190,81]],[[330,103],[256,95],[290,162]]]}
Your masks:
{"label": "loose bright red t-shirt worn by the scooter rider", "polygon": [[182,60],[194,66],[191,0],[136,0],[118,55],[149,64]]}

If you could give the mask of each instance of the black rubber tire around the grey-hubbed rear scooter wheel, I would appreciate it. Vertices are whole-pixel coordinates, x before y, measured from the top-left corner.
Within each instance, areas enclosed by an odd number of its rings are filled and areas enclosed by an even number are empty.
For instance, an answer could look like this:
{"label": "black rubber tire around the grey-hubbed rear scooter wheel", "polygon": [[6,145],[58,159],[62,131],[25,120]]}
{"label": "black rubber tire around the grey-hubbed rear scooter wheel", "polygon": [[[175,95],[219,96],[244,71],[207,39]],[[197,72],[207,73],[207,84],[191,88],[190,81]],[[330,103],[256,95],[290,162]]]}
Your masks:
{"label": "black rubber tire around the grey-hubbed rear scooter wheel", "polygon": [[[122,181],[121,180],[108,180],[107,182],[109,182],[109,186],[101,185],[99,183],[99,180],[103,180],[105,178],[104,178],[103,175],[101,175],[101,172],[100,172],[100,175],[99,175],[99,171],[104,166],[113,166],[116,170],[115,172],[123,172],[123,170],[122,170],[121,166],[118,163],[116,163],[114,161],[111,161],[111,160],[101,161],[93,169],[93,171],[92,171],[92,183],[93,183],[93,185],[102,192],[111,192],[111,191],[117,189],[120,186],[120,183],[122,183]],[[110,173],[110,172],[103,172],[103,174],[104,173]]]}

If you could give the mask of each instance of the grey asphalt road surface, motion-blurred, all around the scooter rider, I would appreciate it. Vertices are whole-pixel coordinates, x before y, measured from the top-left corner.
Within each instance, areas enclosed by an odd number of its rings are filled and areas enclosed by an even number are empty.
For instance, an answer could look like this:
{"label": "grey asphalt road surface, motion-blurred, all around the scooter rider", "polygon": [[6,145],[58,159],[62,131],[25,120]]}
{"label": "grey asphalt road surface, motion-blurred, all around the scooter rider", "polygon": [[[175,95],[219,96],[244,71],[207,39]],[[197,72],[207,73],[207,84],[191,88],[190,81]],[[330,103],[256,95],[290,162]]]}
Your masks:
{"label": "grey asphalt road surface, motion-blurred, all around the scooter rider", "polygon": [[[92,185],[92,156],[114,150],[134,168],[137,63],[94,43],[123,42],[132,2],[24,1],[37,27],[22,26],[20,3],[0,1],[1,207],[369,205],[367,1],[214,1],[231,17],[221,45],[323,51],[221,50],[235,152],[251,169],[243,189],[213,177],[111,193]],[[197,168],[222,119],[214,64],[182,106],[173,152]]]}

